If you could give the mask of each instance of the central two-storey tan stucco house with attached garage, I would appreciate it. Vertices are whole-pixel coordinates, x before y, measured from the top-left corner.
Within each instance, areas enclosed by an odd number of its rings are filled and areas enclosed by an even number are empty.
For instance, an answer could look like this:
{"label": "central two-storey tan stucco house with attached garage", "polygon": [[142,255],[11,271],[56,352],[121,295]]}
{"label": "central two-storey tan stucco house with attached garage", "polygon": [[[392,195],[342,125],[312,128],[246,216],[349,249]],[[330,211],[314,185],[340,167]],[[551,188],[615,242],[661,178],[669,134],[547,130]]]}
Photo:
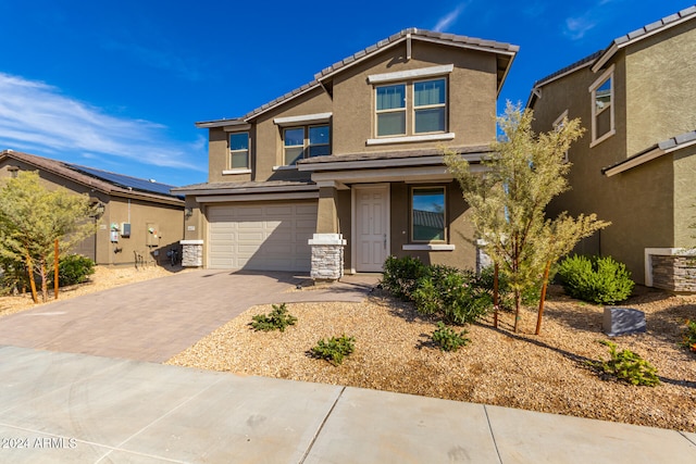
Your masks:
{"label": "central two-storey tan stucco house with attached garage", "polygon": [[473,267],[473,227],[443,147],[475,163],[518,47],[406,29],[209,130],[185,264],[380,272],[389,254]]}

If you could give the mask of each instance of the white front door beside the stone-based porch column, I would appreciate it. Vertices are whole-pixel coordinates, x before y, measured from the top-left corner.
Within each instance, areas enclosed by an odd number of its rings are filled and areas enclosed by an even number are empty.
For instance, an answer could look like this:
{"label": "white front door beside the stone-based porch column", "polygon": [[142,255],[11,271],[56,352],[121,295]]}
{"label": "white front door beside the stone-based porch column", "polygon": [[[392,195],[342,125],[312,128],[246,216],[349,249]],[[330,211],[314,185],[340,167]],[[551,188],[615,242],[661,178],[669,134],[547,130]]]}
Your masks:
{"label": "white front door beside the stone-based porch column", "polygon": [[389,186],[356,187],[357,272],[382,272],[389,250]]}

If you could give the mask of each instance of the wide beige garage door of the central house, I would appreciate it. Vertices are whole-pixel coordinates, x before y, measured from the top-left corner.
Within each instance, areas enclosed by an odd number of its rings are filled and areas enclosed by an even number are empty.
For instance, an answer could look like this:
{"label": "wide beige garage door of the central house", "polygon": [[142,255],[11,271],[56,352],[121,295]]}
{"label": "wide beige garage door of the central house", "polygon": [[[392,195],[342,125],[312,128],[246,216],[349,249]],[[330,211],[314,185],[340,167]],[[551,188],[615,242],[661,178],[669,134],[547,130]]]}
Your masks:
{"label": "wide beige garage door of the central house", "polygon": [[316,203],[211,205],[208,267],[310,271]]}

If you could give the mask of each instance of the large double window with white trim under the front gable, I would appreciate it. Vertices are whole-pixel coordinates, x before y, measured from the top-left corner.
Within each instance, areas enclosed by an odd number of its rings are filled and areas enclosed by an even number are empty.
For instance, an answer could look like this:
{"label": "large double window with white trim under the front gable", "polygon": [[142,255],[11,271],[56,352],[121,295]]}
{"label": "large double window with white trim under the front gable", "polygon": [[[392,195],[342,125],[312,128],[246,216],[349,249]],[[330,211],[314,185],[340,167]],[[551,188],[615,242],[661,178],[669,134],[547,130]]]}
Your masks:
{"label": "large double window with white trim under the front gable", "polygon": [[375,87],[375,134],[394,137],[447,130],[445,78]]}

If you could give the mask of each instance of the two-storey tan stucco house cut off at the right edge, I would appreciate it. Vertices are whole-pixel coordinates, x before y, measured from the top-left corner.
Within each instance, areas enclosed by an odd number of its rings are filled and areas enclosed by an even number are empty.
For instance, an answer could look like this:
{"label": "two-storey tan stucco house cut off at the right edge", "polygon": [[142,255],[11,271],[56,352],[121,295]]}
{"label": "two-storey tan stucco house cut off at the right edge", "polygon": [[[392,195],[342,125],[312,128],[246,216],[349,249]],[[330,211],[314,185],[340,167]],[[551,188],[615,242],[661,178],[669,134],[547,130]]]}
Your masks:
{"label": "two-storey tan stucco house cut off at the right edge", "polygon": [[579,251],[612,255],[647,286],[696,291],[693,261],[680,258],[696,244],[696,7],[538,80],[527,106],[536,131],[563,116],[586,128],[568,153],[572,190],[550,212],[612,225]]}

